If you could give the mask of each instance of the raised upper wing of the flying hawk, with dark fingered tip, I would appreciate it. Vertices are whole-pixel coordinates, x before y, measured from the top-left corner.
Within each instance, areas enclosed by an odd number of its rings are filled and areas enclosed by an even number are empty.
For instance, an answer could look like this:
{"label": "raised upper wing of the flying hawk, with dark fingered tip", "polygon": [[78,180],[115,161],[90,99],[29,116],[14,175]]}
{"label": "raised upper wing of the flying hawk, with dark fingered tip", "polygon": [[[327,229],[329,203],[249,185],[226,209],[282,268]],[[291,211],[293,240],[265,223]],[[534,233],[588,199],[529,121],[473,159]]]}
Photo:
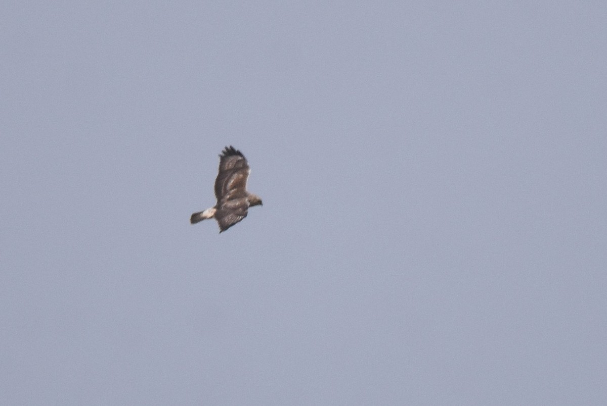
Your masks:
{"label": "raised upper wing of the flying hawk, with dark fingered tip", "polygon": [[[219,157],[219,173],[215,179],[215,197],[217,206],[221,207],[223,202],[246,198],[246,180],[249,178],[251,170],[242,152],[231,145],[223,148],[222,155]],[[244,216],[246,216],[246,208]],[[244,216],[236,222],[242,220]],[[236,224],[236,222],[232,224]]]}

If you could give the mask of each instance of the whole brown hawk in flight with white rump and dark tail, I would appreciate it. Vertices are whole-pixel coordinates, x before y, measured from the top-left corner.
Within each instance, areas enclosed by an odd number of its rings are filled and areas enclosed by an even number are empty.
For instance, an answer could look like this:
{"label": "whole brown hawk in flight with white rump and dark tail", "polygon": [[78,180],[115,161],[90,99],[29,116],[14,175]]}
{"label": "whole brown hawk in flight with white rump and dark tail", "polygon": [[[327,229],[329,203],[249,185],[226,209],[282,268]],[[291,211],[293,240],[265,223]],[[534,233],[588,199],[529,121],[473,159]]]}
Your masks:
{"label": "whole brown hawk in flight with white rump and dark tail", "polygon": [[246,217],[249,207],[262,204],[262,199],[246,191],[246,179],[251,169],[242,152],[230,145],[223,148],[219,156],[219,173],[215,179],[215,207],[194,213],[192,224],[215,218],[219,232],[228,230],[232,225]]}

